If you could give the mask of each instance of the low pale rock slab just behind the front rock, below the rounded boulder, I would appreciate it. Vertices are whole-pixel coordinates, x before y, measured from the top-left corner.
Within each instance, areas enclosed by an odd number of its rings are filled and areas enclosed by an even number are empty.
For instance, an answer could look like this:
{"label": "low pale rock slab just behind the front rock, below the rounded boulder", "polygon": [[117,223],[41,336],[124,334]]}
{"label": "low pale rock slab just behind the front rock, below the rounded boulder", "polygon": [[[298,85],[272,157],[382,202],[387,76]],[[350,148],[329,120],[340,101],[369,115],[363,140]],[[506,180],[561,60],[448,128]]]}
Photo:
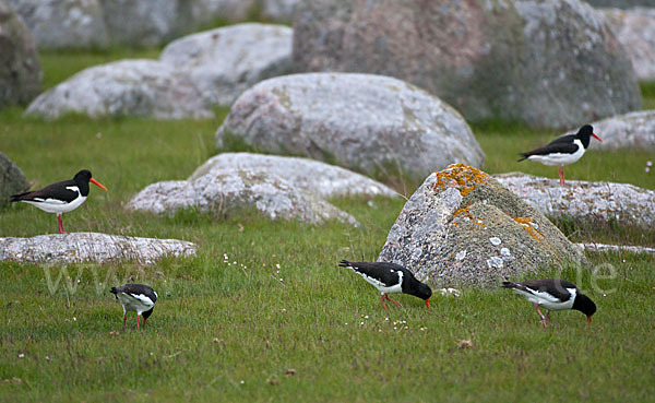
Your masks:
{"label": "low pale rock slab just behind the front rock, below the rounded boulder", "polygon": [[198,179],[212,170],[261,168],[294,185],[294,187],[321,198],[338,195],[385,195],[397,193],[366,176],[308,158],[285,157],[252,153],[223,153],[207,159],[189,180]]}

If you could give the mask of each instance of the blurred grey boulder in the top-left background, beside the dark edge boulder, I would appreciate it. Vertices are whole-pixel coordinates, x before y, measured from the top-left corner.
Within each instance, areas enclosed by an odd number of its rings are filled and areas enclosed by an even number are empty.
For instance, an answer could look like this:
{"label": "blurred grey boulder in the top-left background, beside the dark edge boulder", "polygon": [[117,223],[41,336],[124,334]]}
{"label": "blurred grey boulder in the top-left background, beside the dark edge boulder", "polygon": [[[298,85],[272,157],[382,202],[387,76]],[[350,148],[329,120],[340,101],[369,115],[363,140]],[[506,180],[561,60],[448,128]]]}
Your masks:
{"label": "blurred grey boulder in the top-left background, beside the dark edge boulder", "polygon": [[105,47],[109,43],[98,0],[10,0],[39,48]]}

